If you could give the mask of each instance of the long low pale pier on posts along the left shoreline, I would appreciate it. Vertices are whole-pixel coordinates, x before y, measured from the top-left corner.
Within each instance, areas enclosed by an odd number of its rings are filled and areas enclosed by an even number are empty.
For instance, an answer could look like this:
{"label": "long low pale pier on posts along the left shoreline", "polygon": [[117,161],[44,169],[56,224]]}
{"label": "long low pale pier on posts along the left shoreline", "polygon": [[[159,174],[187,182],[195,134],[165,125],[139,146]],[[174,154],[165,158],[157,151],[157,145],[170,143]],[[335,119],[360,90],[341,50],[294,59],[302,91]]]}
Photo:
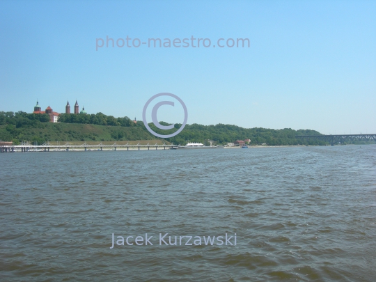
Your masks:
{"label": "long low pale pier on posts along the left shoreline", "polygon": [[50,144],[49,142],[47,143],[44,143],[42,145],[33,145],[33,144],[30,144],[28,142],[22,142],[20,145],[1,145],[0,146],[0,152],[16,152],[17,149],[20,149],[21,152],[31,152],[31,151],[44,151],[44,152],[49,152],[49,149],[51,148],[54,148],[55,150],[66,150],[66,151],[69,151],[70,149],[81,149],[81,150],[92,150],[94,148],[96,148],[97,150],[103,150],[103,148],[107,148],[109,150],[116,150],[117,148],[127,148],[127,150],[130,150],[131,149],[136,149],[138,148],[140,150],[140,148],[143,148],[143,150],[146,150],[146,148],[148,148],[148,150],[150,150],[150,147],[151,148],[155,148],[155,150],[158,150],[158,148],[160,149],[164,149],[166,150],[166,148],[179,148],[181,146],[176,146],[176,145],[166,145],[166,144],[162,144],[162,145],[158,145],[157,143],[155,143],[155,145],[150,145],[149,143],[146,144],[146,145],[140,145],[140,143],[136,144],[136,145],[130,145],[129,143],[126,143],[125,145],[120,145],[120,144],[116,144],[113,143],[112,145],[104,145],[101,143],[97,144],[97,145],[88,145],[86,142],[81,144],[81,145],[72,145],[70,144],[69,142],[65,143],[64,145],[53,145],[53,144]]}

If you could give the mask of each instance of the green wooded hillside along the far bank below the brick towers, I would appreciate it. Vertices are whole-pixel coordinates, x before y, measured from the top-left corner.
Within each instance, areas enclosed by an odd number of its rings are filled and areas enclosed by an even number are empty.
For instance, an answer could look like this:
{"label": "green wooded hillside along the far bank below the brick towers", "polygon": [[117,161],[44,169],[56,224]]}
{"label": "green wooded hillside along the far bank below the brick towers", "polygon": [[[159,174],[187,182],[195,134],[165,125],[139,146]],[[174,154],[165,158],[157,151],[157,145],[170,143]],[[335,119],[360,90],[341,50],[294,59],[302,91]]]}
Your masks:
{"label": "green wooded hillside along the far bank below the brick towers", "polygon": [[[3,141],[132,141],[155,139],[146,130],[142,121],[134,123],[127,116],[114,118],[103,113],[97,114],[65,114],[59,116],[59,123],[49,123],[47,114],[24,113],[18,111],[0,111],[0,139]],[[162,125],[168,123],[161,122]],[[90,126],[89,126],[90,125]],[[160,134],[171,134],[180,128],[176,124],[172,130],[161,131],[152,123],[152,130]],[[320,135],[315,130],[272,130],[255,127],[246,129],[237,125],[186,125],[180,134],[166,139],[174,144],[185,145],[188,142],[214,145],[225,145],[236,140],[251,139],[251,145],[327,145],[319,140],[299,140],[297,135]],[[361,143],[354,141],[354,143]]]}

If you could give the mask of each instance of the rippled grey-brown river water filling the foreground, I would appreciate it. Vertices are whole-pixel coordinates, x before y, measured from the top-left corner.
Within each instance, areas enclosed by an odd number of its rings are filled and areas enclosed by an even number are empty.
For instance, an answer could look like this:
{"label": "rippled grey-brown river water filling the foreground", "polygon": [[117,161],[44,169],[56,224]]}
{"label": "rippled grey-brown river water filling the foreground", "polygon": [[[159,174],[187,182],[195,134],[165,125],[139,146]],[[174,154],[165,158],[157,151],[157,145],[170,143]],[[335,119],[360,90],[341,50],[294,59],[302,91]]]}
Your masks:
{"label": "rippled grey-brown river water filling the foreground", "polygon": [[[15,152],[0,168],[0,281],[375,281],[376,146]],[[155,244],[110,249],[112,233]]]}

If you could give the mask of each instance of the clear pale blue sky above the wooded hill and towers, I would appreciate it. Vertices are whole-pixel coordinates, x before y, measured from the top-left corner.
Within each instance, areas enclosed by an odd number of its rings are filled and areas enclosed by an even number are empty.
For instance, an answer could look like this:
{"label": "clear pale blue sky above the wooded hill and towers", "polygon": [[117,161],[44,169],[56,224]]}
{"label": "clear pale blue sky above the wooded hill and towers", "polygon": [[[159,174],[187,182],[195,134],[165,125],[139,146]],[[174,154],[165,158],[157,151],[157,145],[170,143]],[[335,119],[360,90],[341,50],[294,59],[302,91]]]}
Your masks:
{"label": "clear pale blue sky above the wooded hill and towers", "polygon": [[[376,1],[0,1],[0,32],[0,111],[77,99],[141,120],[169,92],[189,124],[376,133]],[[106,36],[251,44],[96,51]],[[170,108],[159,120],[181,123]]]}

